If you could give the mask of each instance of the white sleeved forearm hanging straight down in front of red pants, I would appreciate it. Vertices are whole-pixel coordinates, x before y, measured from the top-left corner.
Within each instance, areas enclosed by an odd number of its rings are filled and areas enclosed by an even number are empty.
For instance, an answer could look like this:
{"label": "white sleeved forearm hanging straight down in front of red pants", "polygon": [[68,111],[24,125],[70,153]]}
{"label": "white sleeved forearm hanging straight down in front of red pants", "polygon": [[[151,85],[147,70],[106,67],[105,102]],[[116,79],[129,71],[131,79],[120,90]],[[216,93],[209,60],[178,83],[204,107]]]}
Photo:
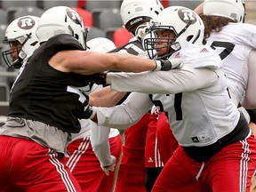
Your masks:
{"label": "white sleeved forearm hanging straight down in front of red pants", "polygon": [[92,150],[98,157],[101,166],[113,164],[111,159],[110,145],[108,135],[110,128],[106,126],[98,126],[90,120],[91,127],[91,144]]}

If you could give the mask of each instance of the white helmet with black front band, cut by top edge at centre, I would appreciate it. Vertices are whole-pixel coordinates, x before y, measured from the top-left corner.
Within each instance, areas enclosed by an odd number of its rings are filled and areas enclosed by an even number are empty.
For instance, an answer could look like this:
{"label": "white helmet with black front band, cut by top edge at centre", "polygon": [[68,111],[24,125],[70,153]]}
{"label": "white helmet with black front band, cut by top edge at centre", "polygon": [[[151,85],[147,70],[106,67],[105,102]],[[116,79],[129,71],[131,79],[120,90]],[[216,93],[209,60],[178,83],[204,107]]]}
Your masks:
{"label": "white helmet with black front band, cut by top edge at centre", "polygon": [[162,10],[164,7],[159,0],[124,0],[120,14],[124,28],[132,32],[133,26],[154,19]]}

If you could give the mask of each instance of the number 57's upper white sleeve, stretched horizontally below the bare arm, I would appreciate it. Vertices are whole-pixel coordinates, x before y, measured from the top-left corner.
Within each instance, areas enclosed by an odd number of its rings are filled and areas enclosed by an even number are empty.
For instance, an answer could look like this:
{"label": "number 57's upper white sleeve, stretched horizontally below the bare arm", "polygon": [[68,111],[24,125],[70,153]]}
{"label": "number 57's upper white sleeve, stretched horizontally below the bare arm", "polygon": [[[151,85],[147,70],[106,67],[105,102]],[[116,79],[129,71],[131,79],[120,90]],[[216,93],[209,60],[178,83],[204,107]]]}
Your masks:
{"label": "number 57's upper white sleeve, stretched horizontally below the bare arm", "polygon": [[218,71],[188,66],[169,71],[108,74],[108,80],[113,90],[118,92],[147,92],[151,94],[192,92],[209,86],[218,78]]}

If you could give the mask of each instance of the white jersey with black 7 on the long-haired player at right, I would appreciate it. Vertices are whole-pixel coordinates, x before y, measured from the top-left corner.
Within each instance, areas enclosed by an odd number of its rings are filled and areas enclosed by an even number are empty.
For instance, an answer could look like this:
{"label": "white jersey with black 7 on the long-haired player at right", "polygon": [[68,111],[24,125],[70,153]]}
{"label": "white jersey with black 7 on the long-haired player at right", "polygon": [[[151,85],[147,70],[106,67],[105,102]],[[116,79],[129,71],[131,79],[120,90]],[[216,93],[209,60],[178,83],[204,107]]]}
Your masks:
{"label": "white jersey with black 7 on the long-haired player at right", "polygon": [[256,97],[254,96],[256,93],[256,76],[254,74],[256,58],[254,58],[254,65],[248,65],[249,54],[256,49],[256,26],[229,22],[220,32],[212,31],[206,41],[220,55],[228,79],[228,87],[231,90],[230,94],[236,106],[241,102],[250,78],[254,84],[251,86],[253,90],[252,92],[247,90],[246,94],[253,95],[248,95],[248,97],[250,97],[251,108],[256,108]]}

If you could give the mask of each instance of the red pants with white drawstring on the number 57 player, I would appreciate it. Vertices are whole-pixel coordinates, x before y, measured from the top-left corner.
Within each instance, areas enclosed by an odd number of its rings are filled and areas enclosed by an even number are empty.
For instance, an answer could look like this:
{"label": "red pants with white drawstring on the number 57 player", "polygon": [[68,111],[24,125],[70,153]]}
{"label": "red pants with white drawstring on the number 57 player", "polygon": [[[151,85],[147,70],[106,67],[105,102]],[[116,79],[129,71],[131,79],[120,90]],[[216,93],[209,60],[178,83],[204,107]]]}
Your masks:
{"label": "red pants with white drawstring on the number 57 player", "polygon": [[188,157],[179,146],[164,165],[152,191],[249,192],[255,164],[253,136],[222,148],[204,164]]}

